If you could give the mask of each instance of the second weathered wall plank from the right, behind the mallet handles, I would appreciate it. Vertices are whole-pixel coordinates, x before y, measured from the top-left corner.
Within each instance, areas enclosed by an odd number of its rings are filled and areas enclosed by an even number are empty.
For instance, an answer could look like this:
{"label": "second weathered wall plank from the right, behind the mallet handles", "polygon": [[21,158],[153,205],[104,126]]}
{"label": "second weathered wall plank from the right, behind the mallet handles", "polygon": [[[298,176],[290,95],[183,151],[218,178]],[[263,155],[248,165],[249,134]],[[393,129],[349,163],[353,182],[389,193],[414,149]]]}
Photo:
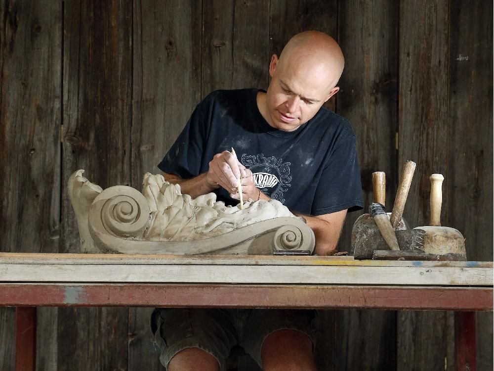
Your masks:
{"label": "second weathered wall plank from the right, behind the mallet handles", "polygon": [[[448,179],[449,170],[448,3],[401,1],[399,22],[399,163],[417,163],[404,215],[412,226],[428,225],[429,176]],[[397,370],[444,370],[447,323],[444,312],[398,313]]]}

